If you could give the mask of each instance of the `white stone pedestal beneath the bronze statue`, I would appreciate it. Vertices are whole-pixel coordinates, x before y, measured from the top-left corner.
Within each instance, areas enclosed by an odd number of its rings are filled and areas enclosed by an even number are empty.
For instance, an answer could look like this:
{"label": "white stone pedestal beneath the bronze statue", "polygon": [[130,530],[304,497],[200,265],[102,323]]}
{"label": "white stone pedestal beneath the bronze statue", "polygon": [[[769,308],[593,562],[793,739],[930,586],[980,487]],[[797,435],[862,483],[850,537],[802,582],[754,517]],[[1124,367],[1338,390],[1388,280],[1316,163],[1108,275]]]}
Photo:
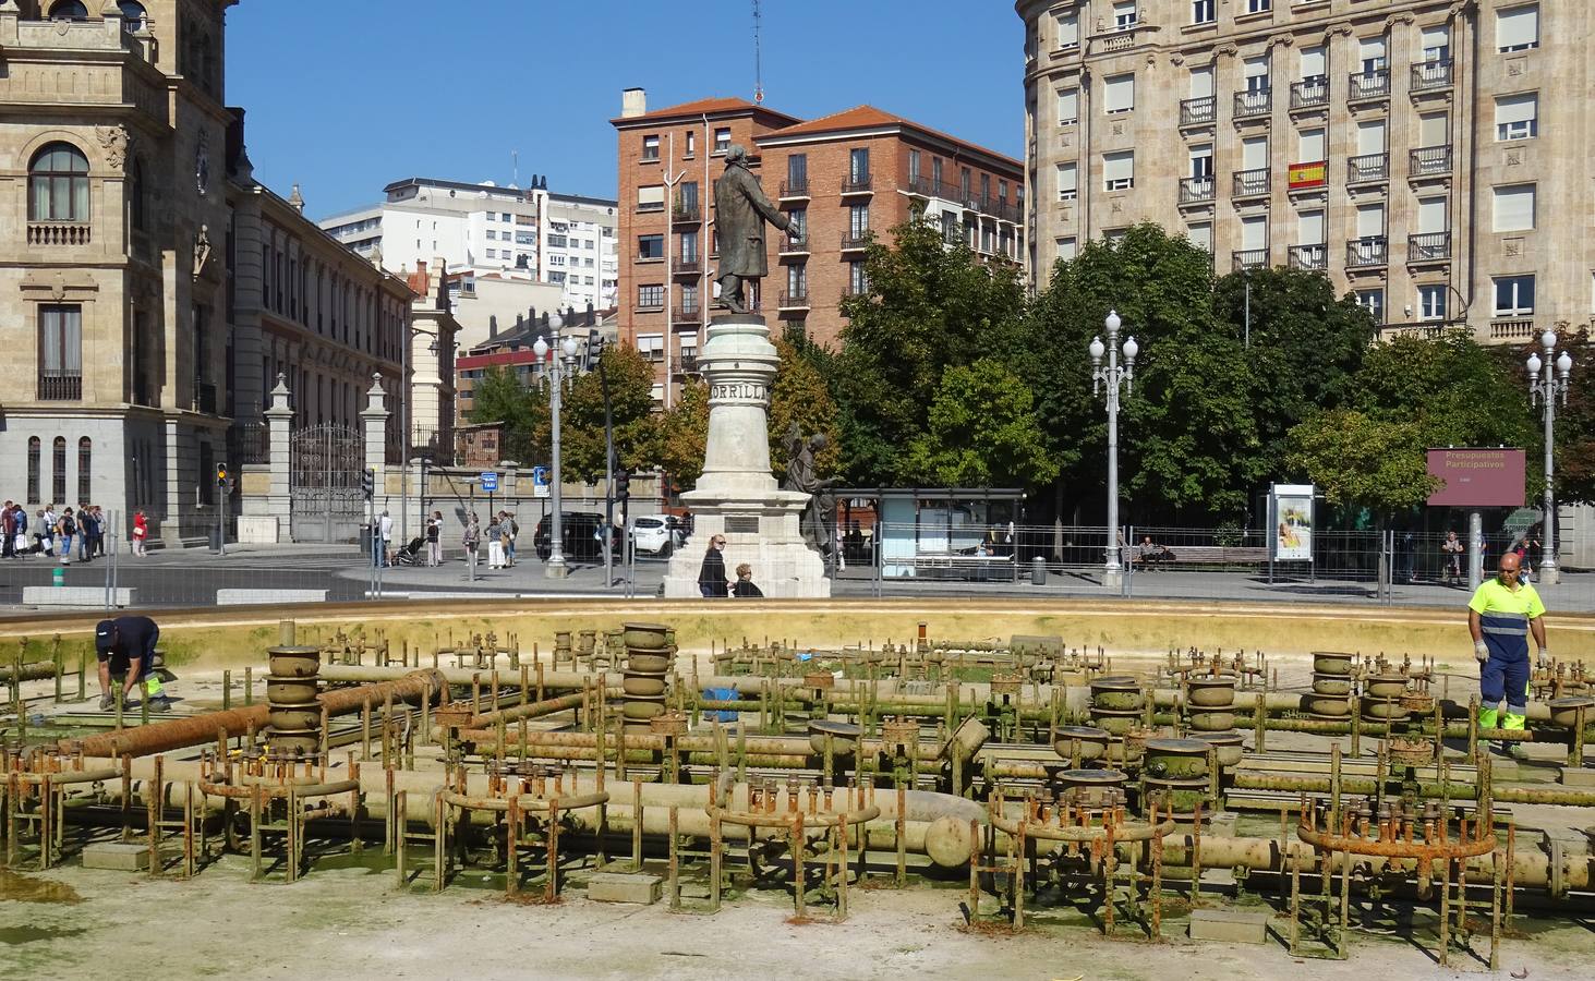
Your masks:
{"label": "white stone pedestal beneath the bronze statue", "polygon": [[825,558],[799,528],[809,494],[780,490],[770,474],[766,407],[780,356],[764,317],[710,321],[699,367],[710,386],[708,440],[697,488],[681,494],[692,510],[692,541],[670,557],[665,597],[699,597],[697,573],[716,534],[726,536],[726,577],[740,563],[766,597],[829,597]]}

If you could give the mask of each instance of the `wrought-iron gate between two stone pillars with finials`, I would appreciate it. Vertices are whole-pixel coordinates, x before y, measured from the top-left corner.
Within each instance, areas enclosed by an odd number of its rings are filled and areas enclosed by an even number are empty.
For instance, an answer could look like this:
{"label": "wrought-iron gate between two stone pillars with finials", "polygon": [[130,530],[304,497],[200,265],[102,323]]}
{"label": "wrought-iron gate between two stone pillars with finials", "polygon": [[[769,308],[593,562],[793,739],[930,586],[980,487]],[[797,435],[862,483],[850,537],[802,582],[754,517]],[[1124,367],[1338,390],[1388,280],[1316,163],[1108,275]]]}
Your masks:
{"label": "wrought-iron gate between two stone pillars with finials", "polygon": [[365,439],[352,426],[311,426],[289,437],[289,533],[297,542],[359,541],[365,522]]}

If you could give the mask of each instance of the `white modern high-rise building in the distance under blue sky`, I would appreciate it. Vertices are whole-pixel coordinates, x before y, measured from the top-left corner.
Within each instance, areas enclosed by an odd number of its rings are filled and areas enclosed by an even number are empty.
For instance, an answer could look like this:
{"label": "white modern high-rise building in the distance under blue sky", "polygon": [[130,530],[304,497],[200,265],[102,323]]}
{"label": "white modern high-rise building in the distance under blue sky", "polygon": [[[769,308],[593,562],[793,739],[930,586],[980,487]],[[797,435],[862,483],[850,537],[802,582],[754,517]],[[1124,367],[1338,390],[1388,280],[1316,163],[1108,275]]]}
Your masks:
{"label": "white modern high-rise building in the distance under blue sky", "polygon": [[614,306],[614,201],[555,195],[536,175],[530,188],[408,177],[383,190],[322,228],[394,273],[442,257],[450,276],[544,282],[560,287],[560,306]]}

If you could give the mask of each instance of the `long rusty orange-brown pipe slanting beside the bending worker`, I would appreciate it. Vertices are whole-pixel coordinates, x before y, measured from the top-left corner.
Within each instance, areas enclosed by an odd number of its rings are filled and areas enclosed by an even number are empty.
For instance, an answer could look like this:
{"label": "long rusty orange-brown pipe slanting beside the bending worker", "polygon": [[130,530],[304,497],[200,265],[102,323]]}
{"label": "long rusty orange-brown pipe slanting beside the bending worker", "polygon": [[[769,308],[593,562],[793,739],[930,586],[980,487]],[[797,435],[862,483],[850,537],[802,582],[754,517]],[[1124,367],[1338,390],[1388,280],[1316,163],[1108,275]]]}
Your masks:
{"label": "long rusty orange-brown pipe slanting beside the bending worker", "polygon": [[[324,691],[317,700],[327,708],[327,715],[346,715],[367,702],[381,703],[389,695],[396,702],[410,702],[421,699],[427,691],[435,697],[437,692],[443,691],[443,680],[437,676],[437,672],[423,668],[408,672],[396,681]],[[266,703],[260,703],[249,708],[206,711],[148,726],[134,726],[121,732],[91,735],[85,740],[64,739],[57,745],[62,753],[72,753],[81,747],[85,756],[152,756],[209,743],[222,729],[234,735],[242,735],[250,729],[262,731],[266,727],[268,710]]]}

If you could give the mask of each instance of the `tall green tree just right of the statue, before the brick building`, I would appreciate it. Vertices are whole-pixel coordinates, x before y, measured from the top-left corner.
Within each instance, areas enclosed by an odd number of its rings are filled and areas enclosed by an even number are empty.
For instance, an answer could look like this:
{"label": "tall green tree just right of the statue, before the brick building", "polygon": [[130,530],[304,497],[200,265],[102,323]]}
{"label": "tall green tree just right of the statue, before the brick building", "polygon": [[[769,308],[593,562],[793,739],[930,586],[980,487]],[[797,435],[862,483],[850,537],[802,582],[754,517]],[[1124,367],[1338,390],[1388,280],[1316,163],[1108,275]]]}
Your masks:
{"label": "tall green tree just right of the statue, before the brick building", "polygon": [[981,357],[1024,309],[1018,268],[987,265],[967,246],[947,247],[924,220],[872,242],[869,290],[842,301],[849,319],[833,368],[845,477],[892,483],[904,448],[925,432],[949,365]]}

